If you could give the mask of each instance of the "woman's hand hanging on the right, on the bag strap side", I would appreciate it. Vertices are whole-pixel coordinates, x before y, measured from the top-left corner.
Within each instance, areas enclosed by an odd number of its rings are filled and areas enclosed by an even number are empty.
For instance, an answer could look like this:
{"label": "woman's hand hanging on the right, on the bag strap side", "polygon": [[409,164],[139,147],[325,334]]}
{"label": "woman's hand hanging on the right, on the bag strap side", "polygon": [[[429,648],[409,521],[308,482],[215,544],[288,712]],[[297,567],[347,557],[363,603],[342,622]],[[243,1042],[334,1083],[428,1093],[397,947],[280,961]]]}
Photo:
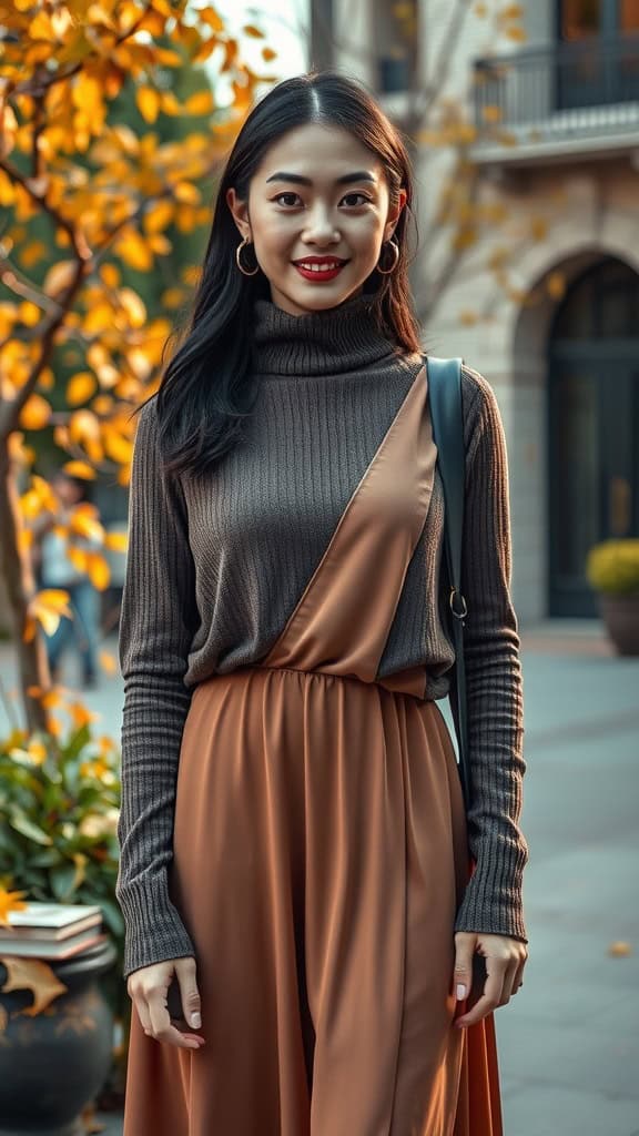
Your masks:
{"label": "woman's hand hanging on the right, on the bag strap side", "polygon": [[474,1026],[497,1006],[507,1005],[523,985],[526,959],[525,943],[516,938],[484,932],[457,932],[453,982],[457,1001],[467,1002],[467,1005],[455,1025],[459,1028]]}

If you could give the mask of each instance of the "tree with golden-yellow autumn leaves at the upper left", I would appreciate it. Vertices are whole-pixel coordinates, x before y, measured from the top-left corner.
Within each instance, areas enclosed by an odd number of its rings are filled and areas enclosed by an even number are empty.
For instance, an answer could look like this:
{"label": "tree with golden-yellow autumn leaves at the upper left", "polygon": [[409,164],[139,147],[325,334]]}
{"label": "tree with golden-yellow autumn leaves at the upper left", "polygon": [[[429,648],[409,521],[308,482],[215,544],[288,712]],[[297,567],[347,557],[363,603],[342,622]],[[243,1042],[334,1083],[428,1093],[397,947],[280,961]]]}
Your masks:
{"label": "tree with golden-yellow autumn leaves at the upper left", "polygon": [[[207,60],[231,92],[223,108],[199,66]],[[186,97],[176,78],[185,69],[200,74]],[[68,610],[68,594],[39,591],[32,570],[51,490],[33,473],[31,432],[53,426],[74,476],[127,484],[131,411],[157,389],[171,307],[184,296],[167,289],[164,311],[150,314],[135,282],[161,277],[174,242],[207,222],[200,186],[260,81],[206,2],[0,0],[1,571],[31,730],[52,726],[41,633]],[[124,95],[138,128],[114,116]],[[180,130],[161,132],[169,120]],[[70,371],[58,366],[65,358]],[[88,503],[67,528],[90,537],[75,567],[105,588],[105,552],[122,537]]]}

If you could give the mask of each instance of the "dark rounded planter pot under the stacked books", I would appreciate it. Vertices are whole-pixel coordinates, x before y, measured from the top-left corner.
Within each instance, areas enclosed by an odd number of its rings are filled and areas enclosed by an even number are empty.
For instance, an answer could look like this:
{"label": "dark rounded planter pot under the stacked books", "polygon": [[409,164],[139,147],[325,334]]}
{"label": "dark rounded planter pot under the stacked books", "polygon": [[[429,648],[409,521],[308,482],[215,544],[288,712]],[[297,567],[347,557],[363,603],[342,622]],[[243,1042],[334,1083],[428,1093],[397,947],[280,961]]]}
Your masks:
{"label": "dark rounded planter pot under the stacked books", "polygon": [[[117,957],[107,939],[66,961],[48,961],[65,986],[33,1018],[28,989],[0,993],[7,1027],[0,1034],[0,1136],[81,1136],[82,1110],[102,1087],[113,1050],[113,1012],[100,977]],[[7,970],[0,963],[0,986]]]}

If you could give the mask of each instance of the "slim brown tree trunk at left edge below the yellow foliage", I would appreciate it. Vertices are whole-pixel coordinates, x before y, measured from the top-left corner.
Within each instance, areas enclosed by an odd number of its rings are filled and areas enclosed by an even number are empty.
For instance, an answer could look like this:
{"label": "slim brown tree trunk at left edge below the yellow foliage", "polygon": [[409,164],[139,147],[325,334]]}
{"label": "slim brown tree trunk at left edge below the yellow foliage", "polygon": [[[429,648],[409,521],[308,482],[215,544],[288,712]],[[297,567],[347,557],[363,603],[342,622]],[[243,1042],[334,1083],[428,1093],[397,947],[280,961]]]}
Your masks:
{"label": "slim brown tree trunk at left edge below the yellow foliage", "polygon": [[49,686],[49,665],[42,636],[36,633],[25,643],[27,605],[35,592],[28,554],[20,552],[18,534],[22,520],[18,504],[15,466],[6,437],[0,437],[0,533],[1,570],[14,620],[14,637],[18,655],[18,673],[26,726],[30,732],[48,728],[47,710],[40,699],[28,694],[30,686]]}

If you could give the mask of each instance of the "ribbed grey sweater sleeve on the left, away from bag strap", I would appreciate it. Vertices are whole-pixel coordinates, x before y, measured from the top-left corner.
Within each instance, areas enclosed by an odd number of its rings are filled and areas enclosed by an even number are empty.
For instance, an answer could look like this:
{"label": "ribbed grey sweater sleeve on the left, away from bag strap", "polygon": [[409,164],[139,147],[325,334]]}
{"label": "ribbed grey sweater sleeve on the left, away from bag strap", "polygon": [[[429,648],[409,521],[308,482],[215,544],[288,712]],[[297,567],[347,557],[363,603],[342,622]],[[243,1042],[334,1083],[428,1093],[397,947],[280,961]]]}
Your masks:
{"label": "ribbed grey sweater sleeve on the left, away from bag strap", "polygon": [[126,927],[125,977],[152,962],[194,954],[171,902],[167,872],[191,700],[183,678],[198,615],[183,502],[163,475],[157,435],[152,402],[140,414],[135,437],[119,626],[125,700],[116,896]]}

